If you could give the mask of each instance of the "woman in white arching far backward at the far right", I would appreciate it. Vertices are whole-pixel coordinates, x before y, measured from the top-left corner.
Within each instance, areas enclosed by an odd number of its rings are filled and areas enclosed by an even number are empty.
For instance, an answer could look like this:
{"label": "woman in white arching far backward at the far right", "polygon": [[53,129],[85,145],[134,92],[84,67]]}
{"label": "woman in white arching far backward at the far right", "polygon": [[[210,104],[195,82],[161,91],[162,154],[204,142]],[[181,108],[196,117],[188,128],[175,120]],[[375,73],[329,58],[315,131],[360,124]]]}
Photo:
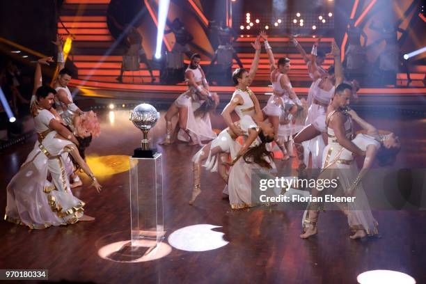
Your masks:
{"label": "woman in white arching far backward at the far right", "polygon": [[[333,119],[333,115],[336,111],[329,113],[328,121]],[[356,145],[361,151],[365,152],[365,158],[361,171],[356,171],[356,163],[354,161],[354,155],[347,148],[339,148],[336,151],[329,151],[330,155],[327,155],[324,161],[324,170],[318,178],[339,178],[340,183],[340,194],[345,196],[354,196],[354,203],[348,203],[344,206],[345,214],[349,223],[349,228],[354,232],[350,236],[351,239],[358,239],[365,237],[366,235],[377,234],[377,221],[374,220],[370,206],[368,205],[368,199],[365,196],[361,180],[365,173],[372,167],[374,159],[379,159],[381,165],[391,164],[395,160],[395,155],[399,152],[401,144],[395,134],[390,133],[387,135],[381,135],[375,127],[365,122],[360,118],[355,111],[348,111],[349,116],[356,121],[363,129],[366,130],[366,134],[358,134],[352,143]],[[339,114],[340,115],[340,114]],[[336,146],[336,136],[334,136],[333,129],[327,127],[330,136],[331,147]],[[313,196],[318,196],[320,193],[317,189],[313,189]],[[301,235],[301,238],[305,239],[311,235],[317,233],[317,220],[319,211],[317,211],[317,204],[312,204],[310,210],[306,212],[306,216],[303,218],[303,228],[305,232]]]}

